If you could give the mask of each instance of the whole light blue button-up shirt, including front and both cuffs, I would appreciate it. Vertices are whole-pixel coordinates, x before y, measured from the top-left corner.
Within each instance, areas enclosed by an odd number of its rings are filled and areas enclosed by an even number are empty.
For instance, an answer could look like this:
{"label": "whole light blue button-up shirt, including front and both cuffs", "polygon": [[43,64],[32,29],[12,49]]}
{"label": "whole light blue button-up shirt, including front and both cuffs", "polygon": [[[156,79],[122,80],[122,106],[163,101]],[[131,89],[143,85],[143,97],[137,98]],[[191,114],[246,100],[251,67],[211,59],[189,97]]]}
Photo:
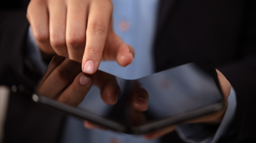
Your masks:
{"label": "whole light blue button-up shirt, including front and both cuffs", "polygon": [[[112,1],[114,5],[113,28],[117,35],[134,48],[135,57],[133,63],[127,67],[119,66],[116,61],[102,61],[99,69],[126,79],[135,79],[153,73],[154,58],[152,52],[159,0]],[[35,67],[40,69],[40,71],[44,71],[46,66],[42,62],[31,29],[28,34],[28,43],[30,47],[28,50],[28,55],[30,56],[28,58]],[[41,67],[38,67],[38,65],[41,65]],[[235,108],[236,98],[235,91],[232,87],[228,98],[227,112],[218,129],[209,131],[207,127],[201,124],[181,124],[177,127],[176,131],[181,139],[186,142],[216,142],[219,137],[225,135],[227,132]],[[207,134],[202,134],[206,132]],[[99,129],[88,130],[83,127],[81,120],[74,117],[67,118],[61,142],[109,143],[111,141],[121,143],[160,142],[159,139],[145,140],[141,135],[128,135]]]}

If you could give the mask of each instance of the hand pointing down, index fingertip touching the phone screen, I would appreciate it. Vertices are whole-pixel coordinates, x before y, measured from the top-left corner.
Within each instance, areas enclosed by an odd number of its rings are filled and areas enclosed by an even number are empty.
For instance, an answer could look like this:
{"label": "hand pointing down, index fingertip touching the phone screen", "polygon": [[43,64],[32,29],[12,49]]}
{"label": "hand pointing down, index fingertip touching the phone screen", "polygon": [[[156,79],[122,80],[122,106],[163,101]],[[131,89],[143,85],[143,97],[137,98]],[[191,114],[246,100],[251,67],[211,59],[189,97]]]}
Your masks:
{"label": "hand pointing down, index fingertip touching the phone screen", "polygon": [[93,74],[102,60],[132,63],[133,48],[112,29],[111,0],[31,0],[27,19],[42,52],[69,57]]}

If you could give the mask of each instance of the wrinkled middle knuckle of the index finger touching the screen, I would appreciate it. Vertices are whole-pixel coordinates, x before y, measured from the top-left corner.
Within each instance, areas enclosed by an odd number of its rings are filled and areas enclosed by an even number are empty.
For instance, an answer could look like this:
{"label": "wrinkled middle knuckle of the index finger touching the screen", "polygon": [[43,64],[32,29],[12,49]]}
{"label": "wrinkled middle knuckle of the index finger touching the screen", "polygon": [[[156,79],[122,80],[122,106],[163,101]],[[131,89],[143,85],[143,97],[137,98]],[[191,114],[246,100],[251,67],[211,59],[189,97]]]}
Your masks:
{"label": "wrinkled middle knuckle of the index finger touching the screen", "polygon": [[88,30],[88,32],[91,32],[92,34],[99,35],[106,33],[107,28],[102,22],[93,22],[90,24]]}

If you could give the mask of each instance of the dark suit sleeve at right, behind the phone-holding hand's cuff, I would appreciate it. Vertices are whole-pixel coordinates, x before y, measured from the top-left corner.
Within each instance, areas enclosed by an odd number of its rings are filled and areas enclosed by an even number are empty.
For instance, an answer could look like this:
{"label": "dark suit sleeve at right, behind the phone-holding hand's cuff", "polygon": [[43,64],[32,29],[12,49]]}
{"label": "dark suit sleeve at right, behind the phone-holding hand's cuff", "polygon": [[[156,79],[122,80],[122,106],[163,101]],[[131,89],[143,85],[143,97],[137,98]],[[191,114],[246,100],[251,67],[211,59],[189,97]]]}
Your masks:
{"label": "dark suit sleeve at right, behind the phone-holding hand's cuff", "polygon": [[238,55],[241,58],[219,67],[237,94],[232,130],[220,142],[249,142],[256,137],[256,1],[248,7]]}

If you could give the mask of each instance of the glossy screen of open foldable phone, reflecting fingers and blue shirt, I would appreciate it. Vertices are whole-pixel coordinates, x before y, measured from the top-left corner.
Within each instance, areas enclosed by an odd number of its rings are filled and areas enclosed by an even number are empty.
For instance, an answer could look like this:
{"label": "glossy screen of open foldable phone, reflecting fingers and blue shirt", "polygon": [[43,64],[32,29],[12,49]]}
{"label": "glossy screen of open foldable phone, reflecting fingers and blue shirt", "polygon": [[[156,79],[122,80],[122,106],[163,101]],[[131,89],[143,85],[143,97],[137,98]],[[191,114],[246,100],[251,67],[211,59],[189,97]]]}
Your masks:
{"label": "glossy screen of open foldable phone, reflecting fingers and blue shirt", "polygon": [[[81,63],[54,56],[36,94],[71,106],[61,109],[77,117],[131,134],[223,108],[223,96],[210,60],[184,64],[134,80],[98,70],[92,76],[86,75],[92,82],[82,89],[77,88],[81,74],[84,74]],[[109,100],[116,97],[117,102],[110,105]],[[55,103],[45,104],[60,108]],[[112,121],[118,124],[117,128],[111,125]]]}

